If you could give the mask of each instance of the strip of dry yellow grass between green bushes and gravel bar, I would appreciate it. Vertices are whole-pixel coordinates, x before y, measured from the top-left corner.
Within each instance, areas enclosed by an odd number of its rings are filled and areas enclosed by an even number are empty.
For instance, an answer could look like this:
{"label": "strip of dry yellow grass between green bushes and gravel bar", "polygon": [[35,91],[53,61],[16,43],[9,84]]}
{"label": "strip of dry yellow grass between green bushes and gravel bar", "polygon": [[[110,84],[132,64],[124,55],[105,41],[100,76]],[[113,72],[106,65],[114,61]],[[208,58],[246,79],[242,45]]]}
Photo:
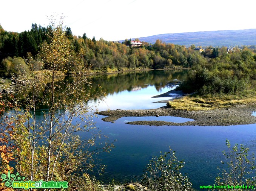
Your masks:
{"label": "strip of dry yellow grass between green bushes and gravel bar", "polygon": [[170,101],[168,105],[174,109],[187,111],[210,110],[216,108],[227,108],[232,105],[247,105],[256,103],[256,97],[239,97],[228,95],[225,97],[189,97],[185,96],[180,99]]}

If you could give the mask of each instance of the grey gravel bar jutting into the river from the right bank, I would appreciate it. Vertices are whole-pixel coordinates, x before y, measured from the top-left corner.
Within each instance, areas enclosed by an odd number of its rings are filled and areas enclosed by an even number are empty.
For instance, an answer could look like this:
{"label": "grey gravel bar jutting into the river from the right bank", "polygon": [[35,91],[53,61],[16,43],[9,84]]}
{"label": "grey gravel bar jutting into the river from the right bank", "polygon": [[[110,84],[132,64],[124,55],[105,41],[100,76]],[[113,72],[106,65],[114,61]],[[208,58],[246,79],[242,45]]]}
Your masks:
{"label": "grey gravel bar jutting into the river from the right bank", "polygon": [[127,124],[150,125],[150,126],[230,126],[256,123],[256,117],[251,115],[256,111],[256,104],[236,105],[230,108],[213,109],[208,111],[185,111],[176,110],[167,106],[158,109],[135,109],[135,110],[108,110],[96,112],[108,117],[103,121],[113,122],[120,117],[143,117],[143,116],[174,116],[190,118],[194,121],[185,123],[172,123],[167,121],[133,121]]}

